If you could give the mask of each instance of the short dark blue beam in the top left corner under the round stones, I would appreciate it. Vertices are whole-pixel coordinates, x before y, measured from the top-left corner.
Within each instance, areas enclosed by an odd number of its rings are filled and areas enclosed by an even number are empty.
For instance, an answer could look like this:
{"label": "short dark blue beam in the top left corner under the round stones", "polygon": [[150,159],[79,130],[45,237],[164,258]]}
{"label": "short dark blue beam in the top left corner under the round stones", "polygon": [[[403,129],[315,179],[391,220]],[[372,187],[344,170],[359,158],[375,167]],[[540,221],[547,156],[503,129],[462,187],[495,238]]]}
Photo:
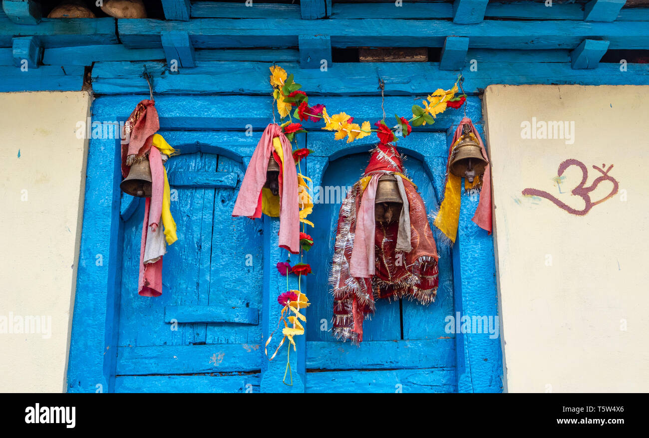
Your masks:
{"label": "short dark blue beam in the top left corner under the round stones", "polygon": [[114,18],[43,18],[38,26],[19,25],[8,19],[0,19],[0,47],[10,47],[12,38],[16,36],[38,36],[43,47],[118,42]]}

